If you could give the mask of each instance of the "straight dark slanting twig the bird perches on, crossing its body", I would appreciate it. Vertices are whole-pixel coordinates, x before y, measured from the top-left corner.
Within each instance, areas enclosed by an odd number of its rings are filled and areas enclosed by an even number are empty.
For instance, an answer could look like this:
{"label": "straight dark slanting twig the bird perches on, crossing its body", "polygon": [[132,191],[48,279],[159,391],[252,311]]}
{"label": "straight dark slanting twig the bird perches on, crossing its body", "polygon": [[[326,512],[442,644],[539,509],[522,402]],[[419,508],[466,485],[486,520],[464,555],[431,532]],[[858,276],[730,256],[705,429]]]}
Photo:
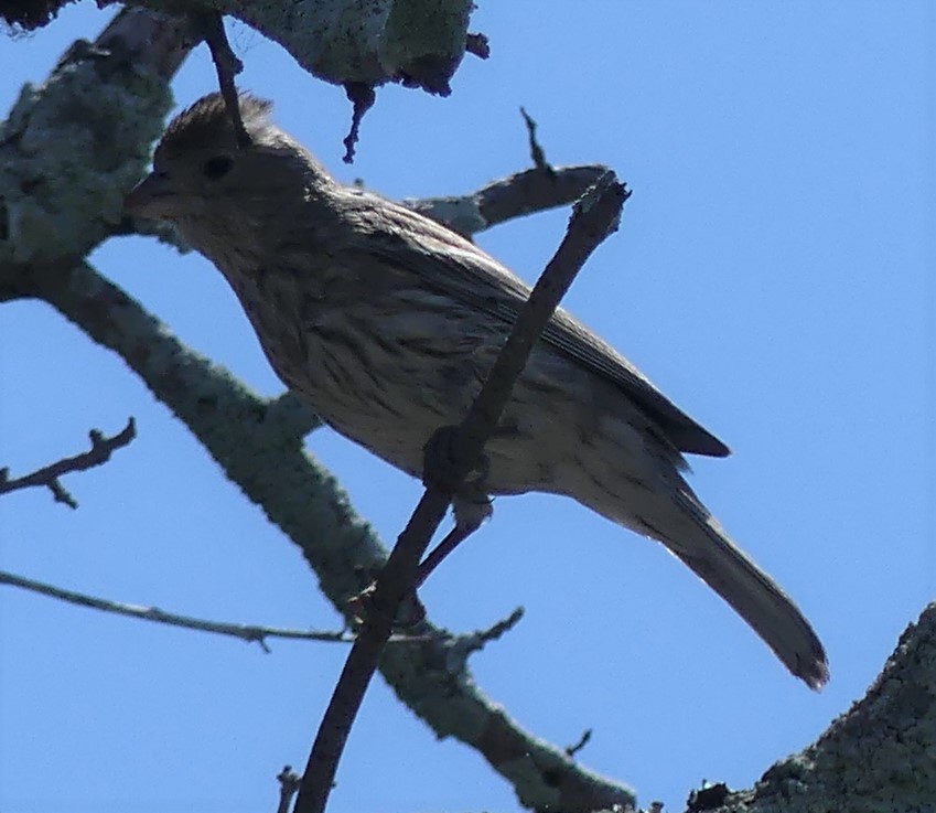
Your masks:
{"label": "straight dark slanting twig the bird perches on, crossing its body", "polygon": [[452,460],[452,479],[448,488],[437,482],[428,485],[377,579],[374,611],[368,613],[361,635],[352,648],[319,727],[294,813],[324,811],[347,735],[390,635],[397,607],[412,589],[419,560],[445,515],[452,491],[480,457],[507,403],[514,382],[526,365],[534,344],[559,300],[589,255],[616,229],[621,207],[627,196],[624,185],[609,171],[573,207],[564,239],[532,289],[459,428],[460,453]]}

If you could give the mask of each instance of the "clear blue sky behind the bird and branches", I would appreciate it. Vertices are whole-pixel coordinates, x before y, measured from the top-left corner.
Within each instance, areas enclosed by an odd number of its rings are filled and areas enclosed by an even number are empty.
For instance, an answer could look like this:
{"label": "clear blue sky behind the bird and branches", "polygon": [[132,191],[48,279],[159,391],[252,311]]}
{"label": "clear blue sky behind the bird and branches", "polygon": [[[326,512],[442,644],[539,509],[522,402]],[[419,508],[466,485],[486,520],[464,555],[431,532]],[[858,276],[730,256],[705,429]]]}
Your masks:
{"label": "clear blue sky behind the bird and branches", "polygon": [[[67,8],[0,39],[4,115],[112,11]],[[604,162],[634,190],[566,304],[722,437],[692,483],[799,602],[829,651],[814,694],[658,546],[558,498],[498,500],[432,577],[437,623],[526,617],[474,656],[478,684],[588,767],[678,810],[703,778],[750,785],[813,741],[878,674],[936,588],[933,430],[934,32],[924,2],[481,2],[492,58],[448,99],[378,93],[353,168],[344,94],[232,26],[241,85],[345,180],[391,196],[467,192],[528,164],[518,106],[557,163]],[[928,50],[928,54],[927,54]],[[213,89],[204,49],[174,84]],[[567,214],[482,245],[532,280]],[[191,346],[280,392],[220,276],[139,238],[96,267]],[[139,438],[0,501],[0,567],[219,620],[333,628],[299,553],[121,362],[36,302],[0,307],[0,464],[14,474]],[[311,453],[394,539],[420,489],[321,430]],[[236,641],[0,590],[0,807],[255,811],[301,766],[345,649]],[[517,810],[472,751],[439,742],[378,680],[331,810]]]}

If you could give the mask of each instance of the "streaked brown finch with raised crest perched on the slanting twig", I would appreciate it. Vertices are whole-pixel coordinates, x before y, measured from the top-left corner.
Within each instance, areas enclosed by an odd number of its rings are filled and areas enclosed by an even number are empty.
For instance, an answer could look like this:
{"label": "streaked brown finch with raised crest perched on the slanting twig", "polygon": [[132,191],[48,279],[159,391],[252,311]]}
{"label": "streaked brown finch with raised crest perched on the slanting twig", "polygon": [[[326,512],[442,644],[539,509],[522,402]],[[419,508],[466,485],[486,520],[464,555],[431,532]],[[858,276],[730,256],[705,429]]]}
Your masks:
{"label": "streaked brown finch with raised crest perched on the slanting twig", "polygon": [[[238,147],[218,94],[170,124],[127,197],[220,270],[279,376],[334,429],[419,477],[458,425],[529,288],[469,240],[334,181],[240,96]],[[728,448],[611,346],[558,310],[485,447],[488,494],[566,494],[661,542],[809,686],[826,654],[781,588],[735,547],[682,472]]]}

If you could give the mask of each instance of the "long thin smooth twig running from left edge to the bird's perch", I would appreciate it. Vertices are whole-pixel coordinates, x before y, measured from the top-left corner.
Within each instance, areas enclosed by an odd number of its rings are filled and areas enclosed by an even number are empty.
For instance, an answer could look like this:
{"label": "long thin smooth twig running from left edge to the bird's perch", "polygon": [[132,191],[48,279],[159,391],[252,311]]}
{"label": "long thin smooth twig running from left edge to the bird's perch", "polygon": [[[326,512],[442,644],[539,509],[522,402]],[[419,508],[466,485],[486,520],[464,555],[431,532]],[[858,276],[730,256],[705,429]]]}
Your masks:
{"label": "long thin smooth twig running from left edge to the bird's perch", "polygon": [[239,638],[248,643],[257,642],[265,652],[269,652],[267,646],[268,638],[298,639],[301,641],[333,641],[336,643],[353,643],[354,635],[346,632],[321,632],[316,630],[284,630],[278,627],[258,627],[256,624],[233,624],[223,621],[206,621],[191,616],[180,616],[174,612],[160,610],[158,607],[140,607],[139,605],[126,605],[121,601],[110,601],[109,599],[88,596],[74,590],[65,590],[62,587],[46,585],[34,579],[26,579],[22,576],[15,576],[11,573],[0,570],[0,585],[11,585],[21,587],[24,590],[31,590],[43,596],[67,601],[72,605],[80,607],[90,607],[95,610],[104,610],[105,612],[114,612],[118,616],[129,616],[131,618],[143,619],[144,621],[157,621],[161,624],[170,624],[171,627],[183,627],[189,630],[201,630],[202,632],[214,632],[219,635],[230,635]]}

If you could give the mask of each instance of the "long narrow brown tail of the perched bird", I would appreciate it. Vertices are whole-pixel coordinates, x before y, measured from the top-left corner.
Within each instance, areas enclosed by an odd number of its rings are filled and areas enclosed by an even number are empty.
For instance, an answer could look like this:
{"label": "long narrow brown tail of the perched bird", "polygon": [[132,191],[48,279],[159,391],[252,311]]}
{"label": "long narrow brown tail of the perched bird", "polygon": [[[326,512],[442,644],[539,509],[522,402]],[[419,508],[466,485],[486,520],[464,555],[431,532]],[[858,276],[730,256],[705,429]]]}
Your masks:
{"label": "long narrow brown tail of the perched bird", "polygon": [[[777,657],[810,688],[829,680],[826,651],[811,625],[779,586],[729,538],[691,491],[677,492],[680,521],[637,517],[658,539],[731,605]],[[605,512],[602,512],[605,513]],[[606,515],[606,514],[605,514]],[[610,517],[634,528],[633,517]]]}

